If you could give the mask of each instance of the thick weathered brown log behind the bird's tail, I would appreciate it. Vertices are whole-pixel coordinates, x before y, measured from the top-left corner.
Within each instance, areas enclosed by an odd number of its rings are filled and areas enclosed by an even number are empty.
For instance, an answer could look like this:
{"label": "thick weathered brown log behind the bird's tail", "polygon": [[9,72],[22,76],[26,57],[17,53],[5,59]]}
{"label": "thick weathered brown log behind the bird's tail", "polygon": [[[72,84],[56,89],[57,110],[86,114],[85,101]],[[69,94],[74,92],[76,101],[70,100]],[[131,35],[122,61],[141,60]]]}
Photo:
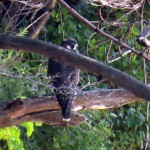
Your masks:
{"label": "thick weathered brown log behind the bird's tail", "polygon": [[[101,89],[79,93],[73,101],[73,110],[110,109],[131,102],[142,101],[123,89]],[[50,125],[79,125],[84,117],[74,113],[71,121],[62,121],[60,107],[54,96],[41,96],[4,102],[0,105],[0,128],[25,121],[40,121]]]}

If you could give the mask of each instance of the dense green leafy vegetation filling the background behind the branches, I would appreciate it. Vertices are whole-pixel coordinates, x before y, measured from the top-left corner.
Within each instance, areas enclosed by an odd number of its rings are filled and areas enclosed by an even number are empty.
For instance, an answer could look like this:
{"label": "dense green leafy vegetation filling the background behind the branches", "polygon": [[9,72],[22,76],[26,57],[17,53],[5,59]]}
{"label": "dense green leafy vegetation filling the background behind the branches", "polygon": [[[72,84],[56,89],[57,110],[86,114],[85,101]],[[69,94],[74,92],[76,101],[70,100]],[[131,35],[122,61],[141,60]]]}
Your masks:
{"label": "dense green leafy vegetation filling the background behind the branches", "polygon": [[[2,6],[1,2],[0,4]],[[149,20],[148,1],[135,11],[100,7],[85,1],[73,3],[72,6],[101,30],[138,51],[143,49],[136,39]],[[0,11],[3,12],[2,8]],[[9,23],[7,15],[2,13],[0,19],[0,31],[8,32],[8,28],[5,28]],[[24,29],[27,22],[28,18],[24,19],[13,32],[26,36],[28,30]],[[66,37],[73,37],[78,41],[81,54],[109,64],[142,82],[150,82],[149,62],[144,62],[141,57],[132,53],[115,61],[126,50],[94,33],[57,3],[38,39],[59,45]],[[114,61],[111,62],[112,60]],[[85,72],[81,72],[79,87],[82,90],[118,88],[111,81],[99,82],[97,77]],[[47,58],[33,53],[0,50],[1,101],[47,93],[52,93],[52,89],[48,87]],[[84,111],[81,113],[86,116],[87,121],[76,127],[63,128],[27,122],[0,129],[0,150],[148,150],[148,109],[148,104],[139,102],[112,110]]]}

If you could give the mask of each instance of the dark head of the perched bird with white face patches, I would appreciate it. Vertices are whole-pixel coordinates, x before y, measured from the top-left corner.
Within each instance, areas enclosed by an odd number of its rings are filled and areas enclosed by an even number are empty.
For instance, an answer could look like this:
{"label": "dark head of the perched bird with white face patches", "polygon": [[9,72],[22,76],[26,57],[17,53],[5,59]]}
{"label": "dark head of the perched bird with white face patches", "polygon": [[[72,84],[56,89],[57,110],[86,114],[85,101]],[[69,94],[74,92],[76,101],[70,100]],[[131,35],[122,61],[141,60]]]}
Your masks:
{"label": "dark head of the perched bird with white face patches", "polygon": [[61,46],[73,52],[76,52],[76,53],[78,52],[78,43],[73,38],[64,39],[61,43]]}

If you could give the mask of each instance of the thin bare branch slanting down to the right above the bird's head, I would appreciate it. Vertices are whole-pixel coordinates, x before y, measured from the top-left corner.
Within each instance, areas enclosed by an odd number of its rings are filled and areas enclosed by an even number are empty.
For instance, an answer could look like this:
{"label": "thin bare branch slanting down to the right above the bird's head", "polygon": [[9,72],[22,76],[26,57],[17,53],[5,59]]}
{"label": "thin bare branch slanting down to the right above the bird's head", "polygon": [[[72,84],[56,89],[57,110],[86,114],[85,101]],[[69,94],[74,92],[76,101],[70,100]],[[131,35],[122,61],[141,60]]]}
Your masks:
{"label": "thin bare branch slanting down to the right above the bird's head", "polygon": [[65,3],[63,0],[58,0],[58,2],[63,5],[73,16],[75,16],[78,20],[82,21],[84,24],[86,24],[89,28],[91,28],[93,31],[95,31],[97,34],[102,35],[103,37],[105,37],[106,39],[109,39],[111,41],[113,41],[114,43],[124,47],[127,50],[131,50],[132,53],[139,55],[141,57],[143,57],[145,60],[150,61],[150,57],[148,57],[147,55],[145,55],[144,53],[140,53],[138,51],[136,51],[134,48],[131,48],[130,46],[128,46],[127,44],[121,42],[120,40],[112,37],[111,35],[105,33],[104,31],[100,30],[99,28],[97,28],[96,26],[94,26],[93,24],[91,24],[87,19],[85,19],[84,17],[82,17],[79,13],[77,13],[72,7],[70,7],[67,3]]}

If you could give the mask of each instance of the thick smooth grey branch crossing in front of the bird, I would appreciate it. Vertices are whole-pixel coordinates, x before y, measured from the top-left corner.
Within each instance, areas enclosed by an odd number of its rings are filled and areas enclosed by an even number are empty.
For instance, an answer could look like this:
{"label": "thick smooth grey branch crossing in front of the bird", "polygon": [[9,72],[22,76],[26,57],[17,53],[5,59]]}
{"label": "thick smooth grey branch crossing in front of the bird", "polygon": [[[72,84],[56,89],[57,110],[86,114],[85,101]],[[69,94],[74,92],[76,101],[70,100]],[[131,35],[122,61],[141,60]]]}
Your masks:
{"label": "thick smooth grey branch crossing in front of the bird", "polygon": [[60,46],[31,38],[0,34],[0,48],[38,53],[59,63],[69,64],[97,76],[102,75],[131,91],[136,96],[150,101],[150,87],[144,83],[115,68],[81,54],[72,53]]}

